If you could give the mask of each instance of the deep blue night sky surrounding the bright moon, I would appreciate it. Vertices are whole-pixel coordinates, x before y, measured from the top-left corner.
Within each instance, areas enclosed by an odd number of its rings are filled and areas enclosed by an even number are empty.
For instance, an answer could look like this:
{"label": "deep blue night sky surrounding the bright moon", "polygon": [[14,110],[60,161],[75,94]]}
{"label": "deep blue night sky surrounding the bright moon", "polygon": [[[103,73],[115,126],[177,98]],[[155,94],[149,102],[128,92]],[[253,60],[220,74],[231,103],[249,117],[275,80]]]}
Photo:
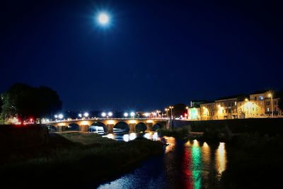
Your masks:
{"label": "deep blue night sky surrounding the bright moon", "polygon": [[[279,2],[279,1],[278,1]],[[0,93],[50,86],[64,110],[155,110],[283,86],[275,1],[1,1]],[[96,22],[98,11],[110,25]]]}

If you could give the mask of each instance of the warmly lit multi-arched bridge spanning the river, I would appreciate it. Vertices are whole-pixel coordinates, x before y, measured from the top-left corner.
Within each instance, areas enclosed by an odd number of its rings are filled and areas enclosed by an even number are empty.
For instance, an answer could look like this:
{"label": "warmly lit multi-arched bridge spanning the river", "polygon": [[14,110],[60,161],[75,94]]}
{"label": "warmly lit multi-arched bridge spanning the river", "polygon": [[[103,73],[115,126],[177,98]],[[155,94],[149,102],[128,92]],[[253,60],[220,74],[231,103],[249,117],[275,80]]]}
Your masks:
{"label": "warmly lit multi-arched bridge spanning the river", "polygon": [[54,127],[57,131],[80,130],[87,132],[91,126],[103,128],[104,132],[112,133],[114,130],[126,132],[151,131],[161,127],[168,128],[170,120],[167,118],[92,118],[81,120],[58,120],[45,122],[45,125]]}

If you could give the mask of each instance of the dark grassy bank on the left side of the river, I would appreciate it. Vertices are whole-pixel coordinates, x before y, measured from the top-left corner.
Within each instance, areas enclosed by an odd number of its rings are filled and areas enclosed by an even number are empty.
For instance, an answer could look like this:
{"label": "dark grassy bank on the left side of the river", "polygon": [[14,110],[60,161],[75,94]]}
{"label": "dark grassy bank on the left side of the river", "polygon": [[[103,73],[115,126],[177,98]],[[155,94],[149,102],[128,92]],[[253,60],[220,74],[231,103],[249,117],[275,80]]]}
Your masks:
{"label": "dark grassy bank on the left side of the river", "polygon": [[7,188],[95,188],[162,151],[161,142],[147,139],[117,142],[98,134],[56,133],[45,147],[7,155],[0,176]]}

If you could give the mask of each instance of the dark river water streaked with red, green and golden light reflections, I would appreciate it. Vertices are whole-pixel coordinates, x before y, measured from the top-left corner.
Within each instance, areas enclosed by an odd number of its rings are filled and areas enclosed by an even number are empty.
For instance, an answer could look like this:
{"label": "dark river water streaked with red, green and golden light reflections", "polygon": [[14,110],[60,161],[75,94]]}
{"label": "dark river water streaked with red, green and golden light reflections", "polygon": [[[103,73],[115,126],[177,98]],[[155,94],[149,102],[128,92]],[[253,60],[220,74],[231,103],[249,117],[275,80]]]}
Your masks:
{"label": "dark river water streaked with red, green and golden light reflections", "polygon": [[[110,134],[104,137],[129,141],[136,134]],[[225,143],[207,144],[173,137],[158,137],[156,132],[144,134],[153,140],[165,140],[164,153],[145,161],[134,171],[98,188],[219,188],[226,169]]]}

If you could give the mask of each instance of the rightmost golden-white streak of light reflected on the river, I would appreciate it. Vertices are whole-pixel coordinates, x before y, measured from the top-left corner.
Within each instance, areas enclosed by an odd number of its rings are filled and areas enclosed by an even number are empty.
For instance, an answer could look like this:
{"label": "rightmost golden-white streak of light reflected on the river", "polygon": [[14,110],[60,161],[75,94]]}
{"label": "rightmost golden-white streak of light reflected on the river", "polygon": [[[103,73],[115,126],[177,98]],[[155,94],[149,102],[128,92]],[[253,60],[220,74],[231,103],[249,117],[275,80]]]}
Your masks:
{"label": "rightmost golden-white streak of light reflected on the river", "polygon": [[224,142],[220,142],[219,147],[216,150],[216,169],[219,176],[221,176],[221,173],[226,169],[226,149]]}

